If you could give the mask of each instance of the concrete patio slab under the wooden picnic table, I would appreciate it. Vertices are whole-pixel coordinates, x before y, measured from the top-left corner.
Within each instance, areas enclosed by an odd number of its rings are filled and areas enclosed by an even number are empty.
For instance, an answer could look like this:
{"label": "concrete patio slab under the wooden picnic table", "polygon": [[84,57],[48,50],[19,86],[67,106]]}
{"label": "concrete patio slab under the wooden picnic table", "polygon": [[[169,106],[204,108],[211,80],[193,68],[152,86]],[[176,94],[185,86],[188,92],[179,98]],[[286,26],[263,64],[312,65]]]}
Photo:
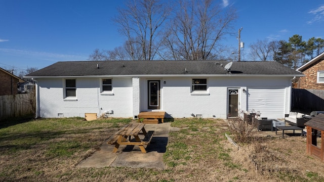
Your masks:
{"label": "concrete patio slab under the wooden picnic table", "polygon": [[80,162],[77,167],[132,167],[164,169],[163,154],[166,152],[171,123],[146,124],[146,131],[155,133],[147,153],[142,153],[138,146],[120,146],[117,153],[112,153],[114,145],[106,142],[92,156]]}

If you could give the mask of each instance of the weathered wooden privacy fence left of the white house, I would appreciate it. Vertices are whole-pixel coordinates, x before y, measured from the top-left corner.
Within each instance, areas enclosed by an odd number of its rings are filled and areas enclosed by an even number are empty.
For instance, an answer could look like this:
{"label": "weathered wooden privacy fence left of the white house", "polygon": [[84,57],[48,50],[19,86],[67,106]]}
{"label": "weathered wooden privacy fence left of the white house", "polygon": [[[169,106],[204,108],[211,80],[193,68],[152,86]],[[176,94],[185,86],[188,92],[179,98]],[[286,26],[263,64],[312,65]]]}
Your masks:
{"label": "weathered wooden privacy fence left of the white house", "polygon": [[29,94],[0,96],[0,120],[32,114],[34,107],[30,99],[34,97]]}

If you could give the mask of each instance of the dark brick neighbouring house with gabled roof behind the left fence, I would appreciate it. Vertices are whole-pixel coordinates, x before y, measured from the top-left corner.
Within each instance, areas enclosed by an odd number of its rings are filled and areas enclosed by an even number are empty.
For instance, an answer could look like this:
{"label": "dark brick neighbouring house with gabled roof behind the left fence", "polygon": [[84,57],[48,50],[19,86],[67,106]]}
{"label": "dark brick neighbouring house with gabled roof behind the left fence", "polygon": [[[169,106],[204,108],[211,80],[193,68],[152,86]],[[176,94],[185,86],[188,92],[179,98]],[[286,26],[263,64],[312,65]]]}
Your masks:
{"label": "dark brick neighbouring house with gabled roof behind the left fence", "polygon": [[0,68],[0,96],[15,95],[18,92],[18,82],[24,82],[21,78]]}

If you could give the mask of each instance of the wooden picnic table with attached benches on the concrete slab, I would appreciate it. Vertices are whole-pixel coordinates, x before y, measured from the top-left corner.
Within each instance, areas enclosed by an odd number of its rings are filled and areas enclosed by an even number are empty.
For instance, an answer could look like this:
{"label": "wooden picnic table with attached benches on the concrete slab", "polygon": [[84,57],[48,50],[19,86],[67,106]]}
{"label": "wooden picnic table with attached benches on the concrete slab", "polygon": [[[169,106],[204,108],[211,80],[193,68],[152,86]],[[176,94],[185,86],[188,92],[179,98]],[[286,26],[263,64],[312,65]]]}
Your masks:
{"label": "wooden picnic table with attached benches on the concrete slab", "polygon": [[[144,123],[129,123],[110,136],[107,144],[115,145],[112,152],[116,153],[120,145],[134,145],[139,146],[142,153],[146,153],[144,145],[150,144],[154,131],[146,132],[144,126]],[[138,135],[144,135],[144,139],[141,140]],[[134,136],[135,141],[131,140],[132,136]]]}

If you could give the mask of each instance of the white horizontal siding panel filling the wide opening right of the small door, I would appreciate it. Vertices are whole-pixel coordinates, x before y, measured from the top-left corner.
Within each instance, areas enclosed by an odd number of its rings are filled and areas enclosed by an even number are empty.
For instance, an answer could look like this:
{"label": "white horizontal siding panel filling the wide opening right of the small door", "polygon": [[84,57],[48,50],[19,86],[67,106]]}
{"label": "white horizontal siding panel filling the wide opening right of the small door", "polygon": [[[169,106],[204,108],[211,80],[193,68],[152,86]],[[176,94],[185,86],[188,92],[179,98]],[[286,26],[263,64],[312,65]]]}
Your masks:
{"label": "white horizontal siding panel filling the wide opening right of the small door", "polygon": [[260,111],[268,119],[285,116],[285,88],[248,88],[248,110]]}

